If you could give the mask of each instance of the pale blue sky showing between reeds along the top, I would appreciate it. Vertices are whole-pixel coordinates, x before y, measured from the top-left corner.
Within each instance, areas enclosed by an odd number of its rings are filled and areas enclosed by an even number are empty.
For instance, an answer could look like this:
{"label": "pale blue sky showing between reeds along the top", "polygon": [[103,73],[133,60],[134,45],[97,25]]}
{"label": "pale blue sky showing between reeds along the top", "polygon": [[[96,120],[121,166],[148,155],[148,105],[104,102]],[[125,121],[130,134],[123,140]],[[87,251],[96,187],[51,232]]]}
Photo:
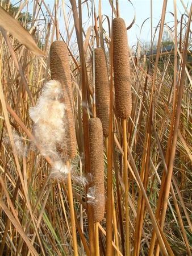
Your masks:
{"label": "pale blue sky showing between reeds along the top", "polygon": [[[49,5],[50,9],[53,10],[54,6],[54,0],[44,0],[47,5]],[[60,6],[62,1],[64,1],[66,4],[70,5],[69,0],[59,0]],[[16,3],[18,1],[12,0],[12,3]],[[23,1],[22,1],[23,2]],[[32,13],[32,6],[33,2],[29,1],[28,10]],[[39,1],[40,2],[40,1]],[[78,2],[78,1],[77,1]],[[111,17],[111,6],[108,0],[101,0],[102,2],[102,14],[108,15]],[[115,1],[114,1],[115,2]],[[120,10],[120,16],[125,20],[126,25],[129,26],[133,20],[134,14],[136,17],[135,24],[128,30],[128,40],[130,43],[130,46],[133,46],[137,39],[139,39],[141,42],[150,42],[151,39],[151,0],[131,0],[131,3],[128,0],[119,0],[119,10]],[[188,0],[176,0],[177,3],[177,16],[178,20],[181,19],[181,14],[185,13],[185,9],[183,8],[183,4],[187,7],[189,10],[190,1]],[[91,0],[88,0],[89,7],[91,6]],[[161,11],[162,11],[162,4],[163,0],[152,0],[152,22],[153,22],[153,32],[155,31],[155,27],[157,26],[160,17],[161,17]],[[99,0],[95,0],[95,7],[96,10],[98,10]],[[68,13],[69,9],[66,7],[66,13]],[[166,16],[165,16],[165,22],[169,24],[170,27],[174,24],[174,18],[173,15],[170,14],[170,12],[174,12],[173,9],[173,0],[168,0],[168,5],[166,8]],[[83,8],[83,21],[86,22],[87,19],[87,9],[86,5]],[[98,11],[97,11],[98,14]],[[60,16],[61,15],[61,16]],[[148,19],[149,18],[149,19]],[[147,20],[146,20],[147,19]],[[143,22],[145,23],[143,24]],[[60,30],[65,33],[64,23],[62,18],[62,11],[59,11],[59,24],[60,24]],[[90,20],[91,22],[91,20]],[[140,31],[141,25],[143,24],[143,28]],[[90,23],[89,23],[90,25]],[[88,23],[86,23],[86,27],[88,26]],[[105,24],[104,24],[105,27]]]}

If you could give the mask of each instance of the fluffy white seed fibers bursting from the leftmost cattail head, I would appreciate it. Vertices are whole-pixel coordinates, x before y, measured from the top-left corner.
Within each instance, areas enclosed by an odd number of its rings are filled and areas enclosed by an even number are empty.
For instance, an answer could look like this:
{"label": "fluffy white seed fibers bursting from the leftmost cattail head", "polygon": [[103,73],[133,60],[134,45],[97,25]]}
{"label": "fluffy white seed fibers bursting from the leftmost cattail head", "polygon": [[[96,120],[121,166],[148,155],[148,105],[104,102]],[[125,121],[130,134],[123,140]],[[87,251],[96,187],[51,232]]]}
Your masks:
{"label": "fluffy white seed fibers bursting from the leftmost cattail head", "polygon": [[30,108],[30,117],[34,121],[34,135],[41,147],[41,154],[53,161],[52,177],[57,179],[60,174],[67,174],[70,170],[57,150],[66,143],[65,104],[59,81],[50,80],[44,85],[35,108]]}

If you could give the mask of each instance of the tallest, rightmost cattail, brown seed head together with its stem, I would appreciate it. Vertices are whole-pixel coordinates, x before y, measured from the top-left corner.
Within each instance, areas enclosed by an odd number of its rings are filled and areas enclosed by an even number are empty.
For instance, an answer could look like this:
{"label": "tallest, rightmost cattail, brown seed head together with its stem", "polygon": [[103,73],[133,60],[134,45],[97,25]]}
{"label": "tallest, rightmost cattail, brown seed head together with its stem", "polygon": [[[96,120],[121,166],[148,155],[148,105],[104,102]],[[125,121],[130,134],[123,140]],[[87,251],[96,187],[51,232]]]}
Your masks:
{"label": "tallest, rightmost cattail, brown seed head together with its stem", "polygon": [[115,109],[123,126],[123,166],[125,184],[125,208],[126,208],[126,255],[130,255],[130,228],[128,210],[128,168],[127,168],[127,123],[126,119],[131,115],[131,82],[130,63],[127,42],[126,24],[122,18],[113,20],[113,66],[115,85]]}

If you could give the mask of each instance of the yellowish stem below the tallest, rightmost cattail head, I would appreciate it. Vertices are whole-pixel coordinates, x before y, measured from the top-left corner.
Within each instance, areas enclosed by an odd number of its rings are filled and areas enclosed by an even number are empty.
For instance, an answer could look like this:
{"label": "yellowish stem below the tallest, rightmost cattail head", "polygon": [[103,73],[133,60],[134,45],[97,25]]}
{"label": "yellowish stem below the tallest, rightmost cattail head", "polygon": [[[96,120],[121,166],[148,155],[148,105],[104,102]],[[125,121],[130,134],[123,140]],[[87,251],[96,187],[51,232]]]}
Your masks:
{"label": "yellowish stem below the tallest, rightmost cattail head", "polygon": [[128,208],[128,167],[127,167],[127,119],[122,120],[123,125],[123,169],[124,169],[124,187],[125,187],[125,204],[126,204],[126,255],[130,255],[130,218]]}

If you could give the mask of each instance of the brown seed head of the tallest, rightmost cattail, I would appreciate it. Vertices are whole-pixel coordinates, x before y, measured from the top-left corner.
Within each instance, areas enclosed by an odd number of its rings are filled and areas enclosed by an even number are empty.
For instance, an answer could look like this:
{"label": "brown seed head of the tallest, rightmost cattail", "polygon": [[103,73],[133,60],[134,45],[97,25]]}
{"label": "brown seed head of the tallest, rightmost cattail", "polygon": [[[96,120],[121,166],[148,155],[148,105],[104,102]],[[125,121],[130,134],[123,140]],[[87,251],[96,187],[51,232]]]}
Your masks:
{"label": "brown seed head of the tallest, rightmost cattail", "polygon": [[113,20],[113,63],[115,108],[119,118],[131,115],[131,81],[126,24],[122,18]]}

